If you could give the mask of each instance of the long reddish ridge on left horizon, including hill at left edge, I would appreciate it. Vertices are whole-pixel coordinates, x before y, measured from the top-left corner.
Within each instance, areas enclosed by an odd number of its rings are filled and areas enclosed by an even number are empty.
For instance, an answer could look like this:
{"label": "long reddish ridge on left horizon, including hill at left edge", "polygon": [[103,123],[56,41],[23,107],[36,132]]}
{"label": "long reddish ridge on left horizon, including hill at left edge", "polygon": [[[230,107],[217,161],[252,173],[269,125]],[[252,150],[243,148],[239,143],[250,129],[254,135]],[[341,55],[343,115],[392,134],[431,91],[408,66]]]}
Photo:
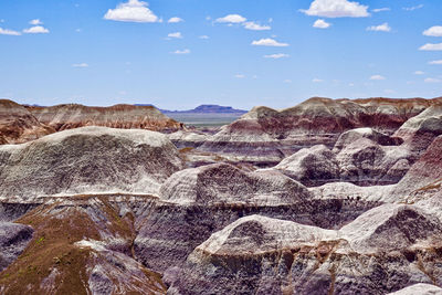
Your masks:
{"label": "long reddish ridge on left horizon, including hill at left edge", "polygon": [[65,129],[103,126],[171,133],[183,125],[152,106],[92,107],[77,104],[23,106],[0,99],[0,145],[22,144]]}

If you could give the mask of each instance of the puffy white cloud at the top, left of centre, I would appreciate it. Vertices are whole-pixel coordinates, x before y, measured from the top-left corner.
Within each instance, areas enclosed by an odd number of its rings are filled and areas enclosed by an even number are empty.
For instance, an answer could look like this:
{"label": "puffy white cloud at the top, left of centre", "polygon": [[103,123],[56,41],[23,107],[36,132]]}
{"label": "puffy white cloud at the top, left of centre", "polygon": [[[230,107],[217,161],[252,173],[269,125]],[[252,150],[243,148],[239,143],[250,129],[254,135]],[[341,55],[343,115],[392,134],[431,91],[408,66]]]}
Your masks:
{"label": "puffy white cloud at the top, left of centre", "polygon": [[147,8],[148,3],[139,0],[128,0],[119,3],[115,9],[107,10],[105,20],[125,22],[159,22],[157,15]]}

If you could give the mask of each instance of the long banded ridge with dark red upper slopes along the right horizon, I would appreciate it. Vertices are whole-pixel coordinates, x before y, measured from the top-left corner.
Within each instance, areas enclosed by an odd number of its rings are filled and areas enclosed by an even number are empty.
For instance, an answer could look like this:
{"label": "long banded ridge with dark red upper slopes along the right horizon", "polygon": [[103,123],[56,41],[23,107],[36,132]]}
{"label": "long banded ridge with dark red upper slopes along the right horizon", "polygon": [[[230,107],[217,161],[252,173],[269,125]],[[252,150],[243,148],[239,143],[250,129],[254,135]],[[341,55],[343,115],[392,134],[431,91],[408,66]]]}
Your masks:
{"label": "long banded ridge with dark red upper slopes along the right horizon", "polygon": [[370,127],[391,135],[409,118],[441,102],[442,98],[313,97],[282,110],[260,106],[224,126],[199,149],[250,161],[277,161],[303,147],[333,147],[341,133],[355,128]]}

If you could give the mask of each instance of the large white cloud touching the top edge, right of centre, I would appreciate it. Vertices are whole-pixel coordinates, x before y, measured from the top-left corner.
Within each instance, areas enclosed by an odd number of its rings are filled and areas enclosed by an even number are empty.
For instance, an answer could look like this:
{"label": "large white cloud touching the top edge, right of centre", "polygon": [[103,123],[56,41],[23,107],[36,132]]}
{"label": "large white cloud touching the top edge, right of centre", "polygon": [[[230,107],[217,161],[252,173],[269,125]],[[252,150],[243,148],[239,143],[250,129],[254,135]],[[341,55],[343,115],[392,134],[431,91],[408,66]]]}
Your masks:
{"label": "large white cloud touching the top edge, right of centre", "polygon": [[314,0],[309,9],[301,11],[307,15],[325,17],[325,18],[365,18],[370,13],[367,11],[368,6],[362,6],[356,1],[348,0]]}

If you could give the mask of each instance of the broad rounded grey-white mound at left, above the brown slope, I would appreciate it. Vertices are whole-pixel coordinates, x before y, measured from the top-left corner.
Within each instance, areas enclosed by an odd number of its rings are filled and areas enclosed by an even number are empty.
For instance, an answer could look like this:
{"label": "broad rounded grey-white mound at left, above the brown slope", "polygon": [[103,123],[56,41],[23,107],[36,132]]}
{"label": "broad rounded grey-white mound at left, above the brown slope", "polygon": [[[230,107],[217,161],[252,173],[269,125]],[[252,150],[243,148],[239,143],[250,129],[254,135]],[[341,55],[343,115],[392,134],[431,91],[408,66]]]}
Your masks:
{"label": "broad rounded grey-white mound at left, above the brown slope", "polygon": [[182,168],[166,135],[82,127],[0,146],[0,194],[157,193]]}

